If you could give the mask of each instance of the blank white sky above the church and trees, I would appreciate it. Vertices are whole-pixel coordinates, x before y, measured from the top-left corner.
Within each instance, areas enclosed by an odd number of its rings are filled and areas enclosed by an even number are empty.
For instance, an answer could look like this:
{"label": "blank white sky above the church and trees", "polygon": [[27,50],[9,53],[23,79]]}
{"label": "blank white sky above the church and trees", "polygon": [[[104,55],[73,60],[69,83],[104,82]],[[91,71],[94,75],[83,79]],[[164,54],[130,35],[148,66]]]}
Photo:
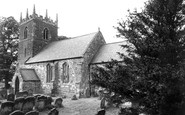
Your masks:
{"label": "blank white sky above the church and trees", "polygon": [[118,42],[114,27],[124,20],[128,10],[141,10],[147,0],[1,0],[0,16],[13,16],[18,22],[20,13],[26,17],[33,13],[46,15],[56,20],[58,14],[58,36],[75,37],[92,32],[102,32],[107,43]]}

